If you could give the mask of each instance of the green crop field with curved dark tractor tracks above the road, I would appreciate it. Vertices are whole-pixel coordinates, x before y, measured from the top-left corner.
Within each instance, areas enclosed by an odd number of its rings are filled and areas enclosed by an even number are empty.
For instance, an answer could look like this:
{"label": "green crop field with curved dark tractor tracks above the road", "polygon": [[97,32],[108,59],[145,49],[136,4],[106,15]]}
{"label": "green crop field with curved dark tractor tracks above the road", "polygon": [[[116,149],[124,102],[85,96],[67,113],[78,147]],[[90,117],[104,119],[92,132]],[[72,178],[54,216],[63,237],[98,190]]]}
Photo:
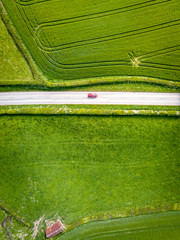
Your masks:
{"label": "green crop field with curved dark tractor tracks above the road", "polygon": [[46,79],[178,81],[179,0],[2,0]]}

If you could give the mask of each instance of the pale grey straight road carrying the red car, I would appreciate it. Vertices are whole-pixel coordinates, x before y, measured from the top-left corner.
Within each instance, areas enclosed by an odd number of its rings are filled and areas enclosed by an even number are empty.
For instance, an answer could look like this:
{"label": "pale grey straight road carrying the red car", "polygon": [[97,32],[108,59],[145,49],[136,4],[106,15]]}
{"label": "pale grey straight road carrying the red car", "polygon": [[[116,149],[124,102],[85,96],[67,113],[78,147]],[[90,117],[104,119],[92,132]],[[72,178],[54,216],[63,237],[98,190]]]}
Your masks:
{"label": "pale grey straight road carrying the red car", "polygon": [[180,93],[151,92],[1,92],[0,105],[28,104],[117,104],[180,106]]}

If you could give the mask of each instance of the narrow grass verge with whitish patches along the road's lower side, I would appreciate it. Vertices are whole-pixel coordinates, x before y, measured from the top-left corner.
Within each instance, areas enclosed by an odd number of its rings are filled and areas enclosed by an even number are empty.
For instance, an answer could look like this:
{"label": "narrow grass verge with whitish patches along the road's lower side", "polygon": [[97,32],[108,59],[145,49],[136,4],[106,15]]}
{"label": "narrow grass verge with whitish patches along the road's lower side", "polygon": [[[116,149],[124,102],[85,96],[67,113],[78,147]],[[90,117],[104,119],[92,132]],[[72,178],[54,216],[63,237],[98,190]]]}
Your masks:
{"label": "narrow grass verge with whitish patches along the road's lower side", "polygon": [[[67,106],[58,106],[58,105],[39,105],[39,106],[14,106],[14,107],[4,107],[0,109],[0,115],[84,115],[84,116],[173,116],[173,117],[180,117],[180,111],[172,110],[171,107],[164,107],[165,109],[157,107],[161,110],[157,110],[156,107],[152,107],[149,109],[143,109],[143,107],[136,107],[135,109],[133,106],[127,108],[116,109],[115,107],[102,107],[100,108],[88,108],[80,107],[78,108],[71,108]],[[147,107],[148,108],[148,107]],[[156,110],[153,110],[156,109]],[[174,109],[179,109],[179,107],[174,107]]]}

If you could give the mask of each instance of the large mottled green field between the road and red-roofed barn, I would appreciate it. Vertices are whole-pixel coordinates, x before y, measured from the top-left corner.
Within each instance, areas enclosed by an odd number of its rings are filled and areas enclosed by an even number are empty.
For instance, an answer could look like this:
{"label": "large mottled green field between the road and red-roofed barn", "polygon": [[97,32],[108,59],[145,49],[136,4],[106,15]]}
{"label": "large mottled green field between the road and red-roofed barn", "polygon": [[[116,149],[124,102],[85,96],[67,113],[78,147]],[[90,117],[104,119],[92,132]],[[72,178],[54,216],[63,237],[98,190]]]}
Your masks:
{"label": "large mottled green field between the road and red-roofed barn", "polygon": [[54,216],[75,227],[180,209],[176,117],[4,115],[0,129],[1,204],[41,219],[40,239]]}

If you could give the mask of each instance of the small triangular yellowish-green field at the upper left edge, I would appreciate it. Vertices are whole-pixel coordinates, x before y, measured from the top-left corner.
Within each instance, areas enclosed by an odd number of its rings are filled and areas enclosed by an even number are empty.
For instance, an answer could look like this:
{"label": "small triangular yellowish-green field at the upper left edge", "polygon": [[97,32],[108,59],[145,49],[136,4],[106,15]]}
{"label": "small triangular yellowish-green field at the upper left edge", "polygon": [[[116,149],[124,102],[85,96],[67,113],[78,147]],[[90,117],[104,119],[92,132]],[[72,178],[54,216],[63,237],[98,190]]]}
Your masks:
{"label": "small triangular yellowish-green field at the upper left edge", "polygon": [[0,84],[11,81],[33,81],[28,64],[0,18]]}

